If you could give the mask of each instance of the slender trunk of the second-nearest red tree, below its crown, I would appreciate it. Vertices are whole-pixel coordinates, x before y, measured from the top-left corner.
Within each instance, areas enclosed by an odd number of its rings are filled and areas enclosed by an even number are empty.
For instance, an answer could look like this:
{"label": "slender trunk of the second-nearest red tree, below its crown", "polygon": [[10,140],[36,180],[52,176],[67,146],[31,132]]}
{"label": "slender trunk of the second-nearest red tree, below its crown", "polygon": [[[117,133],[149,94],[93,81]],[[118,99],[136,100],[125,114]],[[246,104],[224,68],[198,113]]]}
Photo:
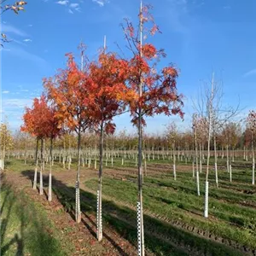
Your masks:
{"label": "slender trunk of the second-nearest red tree, below its crown", "polygon": [[102,241],[102,168],[103,168],[103,122],[101,124],[101,135],[100,135],[100,167],[99,167],[99,181],[97,191],[97,239]]}

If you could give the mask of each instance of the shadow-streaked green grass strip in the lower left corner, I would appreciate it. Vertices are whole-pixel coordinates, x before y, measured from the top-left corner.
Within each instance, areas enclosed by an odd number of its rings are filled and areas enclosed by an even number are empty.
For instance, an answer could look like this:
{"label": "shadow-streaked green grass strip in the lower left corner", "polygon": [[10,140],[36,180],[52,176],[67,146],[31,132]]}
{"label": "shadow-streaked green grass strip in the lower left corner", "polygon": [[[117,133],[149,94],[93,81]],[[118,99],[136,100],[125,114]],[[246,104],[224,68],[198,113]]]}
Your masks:
{"label": "shadow-streaked green grass strip in the lower left corner", "polygon": [[[15,225],[15,226],[14,226]],[[63,255],[59,241],[49,236],[49,224],[23,192],[16,195],[0,173],[0,255]],[[15,235],[10,238],[10,232]]]}

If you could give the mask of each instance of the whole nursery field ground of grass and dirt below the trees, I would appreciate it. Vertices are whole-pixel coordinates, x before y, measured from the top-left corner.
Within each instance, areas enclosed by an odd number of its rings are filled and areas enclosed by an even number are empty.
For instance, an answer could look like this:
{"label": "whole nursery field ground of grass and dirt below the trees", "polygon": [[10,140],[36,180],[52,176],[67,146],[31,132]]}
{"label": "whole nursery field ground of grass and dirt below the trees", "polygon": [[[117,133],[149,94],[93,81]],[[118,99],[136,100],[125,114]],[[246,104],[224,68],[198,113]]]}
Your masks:
{"label": "whole nursery field ground of grass and dirt below the trees", "polygon": [[[121,161],[114,160],[113,167],[104,166],[103,239],[99,242],[96,240],[98,180],[94,166],[85,165],[81,170],[82,222],[76,224],[73,220],[76,166],[72,165],[68,171],[56,161],[53,201],[48,202],[49,166],[45,166],[44,195],[40,196],[32,189],[32,163],[27,160],[25,165],[24,160],[10,158],[1,176],[0,252],[137,255],[137,167],[134,160]],[[174,180],[170,160],[148,161],[147,175],[143,177],[146,255],[256,255],[256,189],[251,184],[250,166],[243,160],[232,163],[230,183],[225,161],[219,160],[218,188],[211,166],[209,218],[204,218],[206,166],[200,173],[199,196],[191,163],[177,163]],[[42,240],[44,246],[38,247],[37,241]]]}

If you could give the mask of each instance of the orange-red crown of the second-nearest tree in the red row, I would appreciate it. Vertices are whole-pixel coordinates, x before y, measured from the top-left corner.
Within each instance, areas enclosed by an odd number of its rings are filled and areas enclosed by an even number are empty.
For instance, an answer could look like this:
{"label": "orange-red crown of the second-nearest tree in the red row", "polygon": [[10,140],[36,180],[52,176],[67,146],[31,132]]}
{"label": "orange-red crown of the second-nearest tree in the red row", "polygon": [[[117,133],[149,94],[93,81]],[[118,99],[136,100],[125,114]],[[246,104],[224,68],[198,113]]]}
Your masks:
{"label": "orange-red crown of the second-nearest tree in the red row", "polygon": [[98,61],[90,63],[90,79],[93,90],[93,118],[98,125],[104,125],[107,133],[113,133],[113,117],[125,110],[125,99],[132,98],[131,90],[125,84],[128,75],[128,61],[118,59],[113,53],[102,52]]}

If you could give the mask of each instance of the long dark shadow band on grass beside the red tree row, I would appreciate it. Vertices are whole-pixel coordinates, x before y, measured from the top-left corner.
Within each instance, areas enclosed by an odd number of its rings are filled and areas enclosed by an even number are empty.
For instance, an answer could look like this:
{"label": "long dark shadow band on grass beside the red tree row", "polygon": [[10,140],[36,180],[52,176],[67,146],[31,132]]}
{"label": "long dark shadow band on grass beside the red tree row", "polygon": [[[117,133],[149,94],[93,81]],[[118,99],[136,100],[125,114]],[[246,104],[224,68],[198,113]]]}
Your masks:
{"label": "long dark shadow band on grass beside the red tree row", "polygon": [[[32,172],[22,172],[22,174],[29,178],[32,178],[33,175]],[[53,189],[58,200],[74,219],[75,189],[55,179],[55,177],[53,177]],[[90,218],[90,214],[96,212],[96,195],[83,189],[80,189],[80,195],[81,211],[84,213],[83,224],[91,235],[96,237],[95,231],[90,227],[90,224],[93,227],[96,226],[96,223]],[[105,224],[109,224],[133,246],[137,247],[136,211],[129,207],[119,206],[113,201],[102,200],[102,218]],[[189,230],[191,227],[185,226],[183,228]],[[146,214],[144,214],[144,230],[145,247],[155,255],[244,255],[236,248],[197,236],[195,233],[179,229]],[[103,232],[103,237],[110,241],[121,255],[128,255],[105,232]]]}

